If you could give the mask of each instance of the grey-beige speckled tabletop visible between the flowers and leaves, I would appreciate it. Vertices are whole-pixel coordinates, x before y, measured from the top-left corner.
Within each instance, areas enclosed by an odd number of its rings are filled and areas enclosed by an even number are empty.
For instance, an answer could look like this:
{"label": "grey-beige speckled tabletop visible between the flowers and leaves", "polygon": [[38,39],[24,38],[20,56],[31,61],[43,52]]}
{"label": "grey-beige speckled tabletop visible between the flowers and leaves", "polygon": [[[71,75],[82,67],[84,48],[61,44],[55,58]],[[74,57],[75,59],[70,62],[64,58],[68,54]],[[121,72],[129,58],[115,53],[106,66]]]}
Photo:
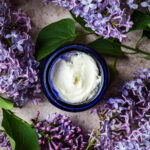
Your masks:
{"label": "grey-beige speckled tabletop visible between the flowers and leaves", "polygon": [[[55,22],[57,20],[71,17],[69,12],[65,9],[62,9],[58,6],[45,6],[42,3],[42,0],[16,0],[16,6],[18,8],[22,8],[32,20],[32,37],[35,40],[37,37],[38,32],[41,30],[42,27]],[[78,25],[77,25],[78,26]],[[79,27],[78,27],[79,28]],[[80,30],[80,28],[78,29]],[[136,41],[140,38],[141,32],[136,31],[128,34],[128,39],[124,44],[129,46],[135,46]],[[82,42],[78,43],[87,43],[95,39],[94,36],[88,36],[82,40]],[[150,52],[150,42],[148,39],[144,39],[140,46],[141,49]],[[117,68],[118,68],[118,76],[114,85],[118,85],[118,83],[122,81],[126,81],[132,78],[132,73],[141,67],[149,67],[150,61],[144,60],[142,55],[134,55],[134,56],[127,56],[126,58],[121,58],[118,60]],[[111,62],[112,58],[106,57],[107,62]],[[113,86],[109,88],[109,90],[113,90]],[[108,92],[109,93],[109,92]],[[71,117],[73,122],[83,127],[84,130],[89,131],[93,128],[98,127],[98,118],[96,115],[91,114],[90,110],[80,113],[69,113],[64,112],[53,105],[51,105],[44,96],[43,101],[39,103],[39,105],[35,106],[33,103],[28,103],[25,105],[24,108],[19,109],[15,108],[13,111],[16,115],[20,116],[27,122],[30,122],[30,119],[35,116],[36,112],[40,110],[41,115],[40,118],[44,118],[48,113],[52,114],[54,112],[58,112],[61,114],[67,114]],[[2,112],[0,111],[0,119],[2,118]]]}

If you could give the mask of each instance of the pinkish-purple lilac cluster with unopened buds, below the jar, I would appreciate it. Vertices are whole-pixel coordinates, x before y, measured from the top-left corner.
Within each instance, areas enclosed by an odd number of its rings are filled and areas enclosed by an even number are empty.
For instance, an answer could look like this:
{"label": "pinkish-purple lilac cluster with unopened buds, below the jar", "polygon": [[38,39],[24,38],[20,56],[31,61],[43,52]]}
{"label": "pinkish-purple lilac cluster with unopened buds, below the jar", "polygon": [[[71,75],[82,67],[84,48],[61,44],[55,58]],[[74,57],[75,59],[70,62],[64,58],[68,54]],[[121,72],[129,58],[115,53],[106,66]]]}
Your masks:
{"label": "pinkish-purple lilac cluster with unopened buds, below the jar", "polygon": [[41,150],[85,150],[86,135],[82,129],[72,123],[67,116],[56,114],[54,119],[50,115],[39,121],[39,112],[33,119],[33,125],[39,138]]}

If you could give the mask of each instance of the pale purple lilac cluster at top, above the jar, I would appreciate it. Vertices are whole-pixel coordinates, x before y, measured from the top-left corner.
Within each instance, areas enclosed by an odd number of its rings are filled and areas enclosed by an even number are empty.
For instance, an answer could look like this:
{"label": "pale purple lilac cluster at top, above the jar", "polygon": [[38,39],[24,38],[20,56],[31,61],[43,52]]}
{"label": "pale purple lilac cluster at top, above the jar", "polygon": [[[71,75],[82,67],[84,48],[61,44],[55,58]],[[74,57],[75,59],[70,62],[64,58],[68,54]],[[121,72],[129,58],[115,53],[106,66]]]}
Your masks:
{"label": "pale purple lilac cluster at top, above the jar", "polygon": [[123,41],[133,23],[126,9],[122,9],[120,0],[44,0],[46,4],[56,5],[72,10],[76,16],[86,21],[96,34],[104,38],[118,38]]}

